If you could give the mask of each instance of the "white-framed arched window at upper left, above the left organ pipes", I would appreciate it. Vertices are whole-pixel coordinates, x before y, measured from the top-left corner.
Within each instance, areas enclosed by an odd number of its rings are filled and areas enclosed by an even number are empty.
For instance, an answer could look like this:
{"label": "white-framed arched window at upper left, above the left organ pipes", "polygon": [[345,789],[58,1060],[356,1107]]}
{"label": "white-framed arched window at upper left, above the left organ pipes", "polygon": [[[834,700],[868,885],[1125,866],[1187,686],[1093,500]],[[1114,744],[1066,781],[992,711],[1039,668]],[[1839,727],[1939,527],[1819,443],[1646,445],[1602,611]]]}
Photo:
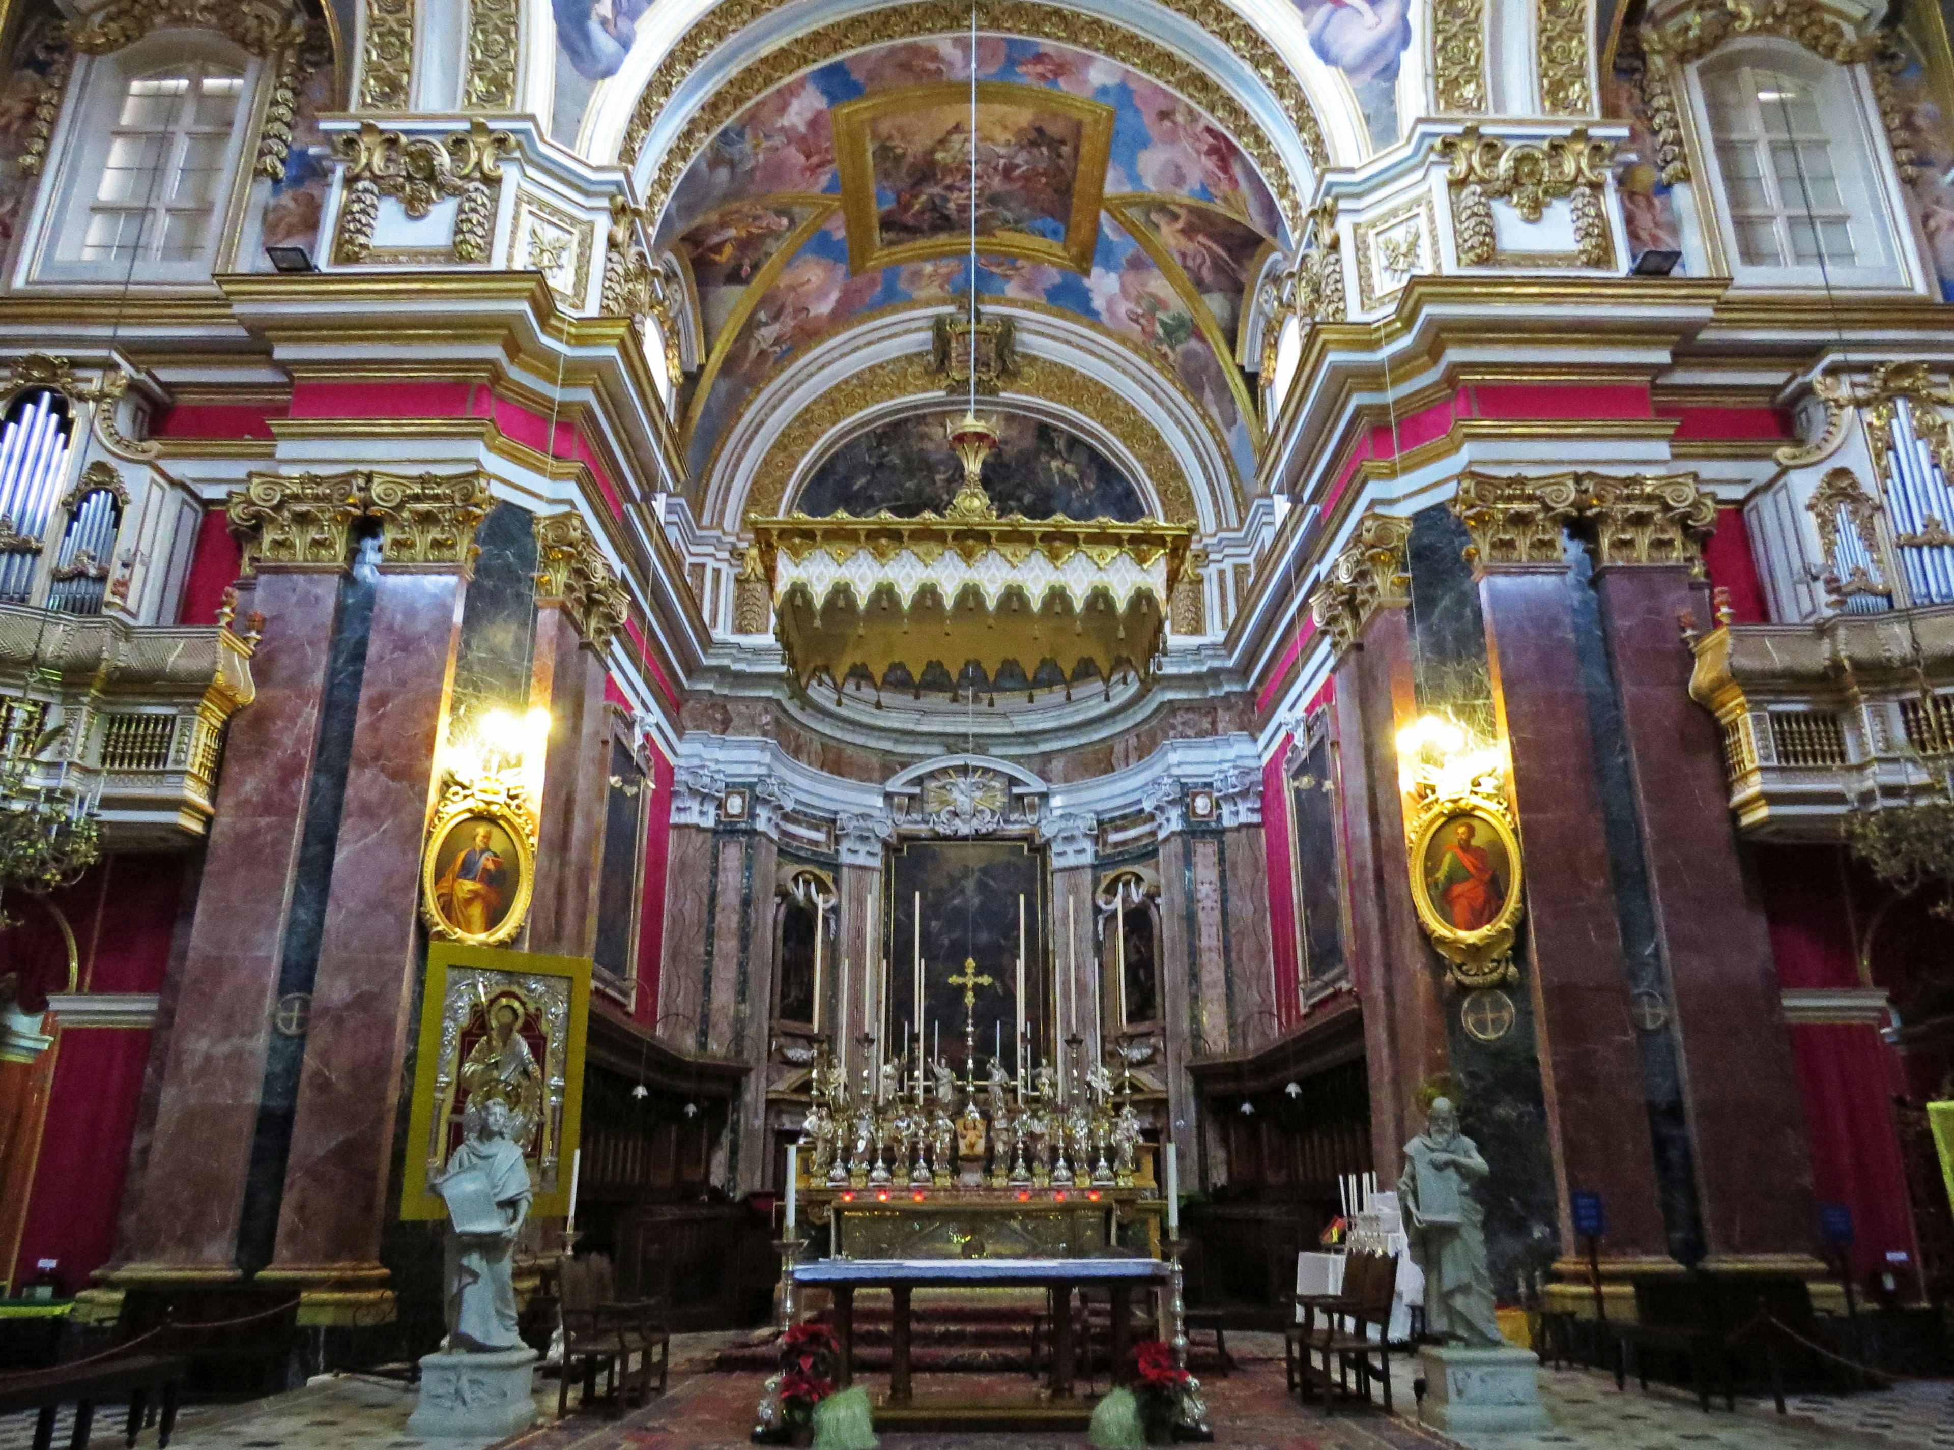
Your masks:
{"label": "white-framed arched window at upper left, above the left organ pipes", "polygon": [[92,57],[35,276],[207,279],[234,231],[258,70],[227,39],[188,31]]}

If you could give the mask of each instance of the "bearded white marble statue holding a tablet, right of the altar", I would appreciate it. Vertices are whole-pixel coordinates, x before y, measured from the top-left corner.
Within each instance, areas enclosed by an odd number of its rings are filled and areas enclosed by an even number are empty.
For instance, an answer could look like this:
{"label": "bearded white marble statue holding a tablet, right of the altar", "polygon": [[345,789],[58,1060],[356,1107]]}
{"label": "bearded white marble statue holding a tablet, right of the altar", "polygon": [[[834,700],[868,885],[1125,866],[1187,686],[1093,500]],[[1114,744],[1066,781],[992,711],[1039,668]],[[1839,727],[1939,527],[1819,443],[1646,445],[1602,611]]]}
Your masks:
{"label": "bearded white marble statue holding a tablet, right of the altar", "polygon": [[1405,1143],[1397,1204],[1411,1253],[1424,1270],[1424,1327],[1436,1339],[1466,1348],[1507,1343],[1493,1313],[1493,1274],[1473,1198],[1473,1186],[1487,1173],[1491,1169],[1479,1149],[1460,1131],[1452,1102],[1432,1102],[1424,1131]]}

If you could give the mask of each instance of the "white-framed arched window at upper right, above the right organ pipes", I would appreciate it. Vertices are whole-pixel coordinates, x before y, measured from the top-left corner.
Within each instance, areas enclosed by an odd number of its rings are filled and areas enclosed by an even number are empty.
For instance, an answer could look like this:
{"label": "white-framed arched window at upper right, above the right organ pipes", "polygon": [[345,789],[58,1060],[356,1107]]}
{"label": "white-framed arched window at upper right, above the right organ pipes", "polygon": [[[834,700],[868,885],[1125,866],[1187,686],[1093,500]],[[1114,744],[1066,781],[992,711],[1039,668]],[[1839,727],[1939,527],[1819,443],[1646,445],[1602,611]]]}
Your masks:
{"label": "white-framed arched window at upper right, above the right organ pipes", "polygon": [[1739,281],[1901,285],[1884,176],[1852,74],[1788,41],[1698,72],[1718,221]]}

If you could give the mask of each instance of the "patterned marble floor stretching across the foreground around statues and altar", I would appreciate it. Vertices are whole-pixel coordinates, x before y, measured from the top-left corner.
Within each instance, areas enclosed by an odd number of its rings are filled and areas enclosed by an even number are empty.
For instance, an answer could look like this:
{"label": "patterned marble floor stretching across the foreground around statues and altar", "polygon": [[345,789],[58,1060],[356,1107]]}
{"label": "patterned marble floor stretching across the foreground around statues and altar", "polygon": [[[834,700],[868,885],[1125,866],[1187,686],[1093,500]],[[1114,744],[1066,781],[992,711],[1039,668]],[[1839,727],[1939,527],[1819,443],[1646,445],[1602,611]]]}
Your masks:
{"label": "patterned marble floor stretching across the foreground around statues and altar", "polygon": [[[760,1376],[713,1374],[727,1335],[684,1335],[672,1346],[672,1393],[621,1417],[573,1415],[557,1423],[553,1380],[537,1382],[543,1419],[504,1450],[741,1450],[746,1446]],[[1737,1401],[1737,1413],[1704,1413],[1673,1393],[1618,1391],[1608,1376],[1540,1372],[1542,1401],[1553,1421],[1534,1434],[1446,1438],[1409,1421],[1413,1368],[1393,1366],[1401,1419],[1381,1413],[1325,1417],[1282,1389],[1282,1339],[1229,1335],[1237,1372],[1204,1376],[1215,1442],[1235,1450],[1954,1450],[1954,1382],[1823,1397],[1807,1395],[1778,1417],[1770,1401]],[[954,1376],[959,1389],[977,1376]],[[1024,1382],[1010,1378],[1008,1387]],[[918,1386],[928,1389],[928,1386]],[[416,1440],[406,1434],[412,1391],[404,1386],[340,1376],[254,1405],[197,1405],[184,1411],[172,1446],[182,1450],[485,1450],[481,1440]],[[27,1450],[33,1421],[0,1419],[0,1450]],[[92,1442],[121,1444],[121,1417],[102,1409]],[[143,1432],[139,1446],[154,1446]],[[68,1444],[66,1417],[55,1446]],[[887,1450],[1083,1450],[1083,1436],[1053,1434],[889,1434]]]}

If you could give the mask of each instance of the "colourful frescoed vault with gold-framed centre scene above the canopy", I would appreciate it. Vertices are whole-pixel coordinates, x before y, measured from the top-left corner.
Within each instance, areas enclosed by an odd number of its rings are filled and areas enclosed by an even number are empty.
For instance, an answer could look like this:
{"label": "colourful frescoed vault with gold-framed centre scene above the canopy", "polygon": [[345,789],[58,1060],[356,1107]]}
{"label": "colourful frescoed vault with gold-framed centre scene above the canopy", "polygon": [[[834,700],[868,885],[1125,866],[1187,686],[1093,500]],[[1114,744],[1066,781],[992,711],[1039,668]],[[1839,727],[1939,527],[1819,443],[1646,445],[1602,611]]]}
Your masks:
{"label": "colourful frescoed vault with gold-framed centre scene above the canopy", "polygon": [[[746,403],[870,315],[967,297],[969,43],[905,41],[762,96],[680,178],[660,240],[690,268],[705,363],[684,401],[705,479]],[[1243,297],[1286,233],[1241,149],[1104,57],[983,37],[977,291],[1079,319],[1200,408],[1239,479],[1260,446]]]}

